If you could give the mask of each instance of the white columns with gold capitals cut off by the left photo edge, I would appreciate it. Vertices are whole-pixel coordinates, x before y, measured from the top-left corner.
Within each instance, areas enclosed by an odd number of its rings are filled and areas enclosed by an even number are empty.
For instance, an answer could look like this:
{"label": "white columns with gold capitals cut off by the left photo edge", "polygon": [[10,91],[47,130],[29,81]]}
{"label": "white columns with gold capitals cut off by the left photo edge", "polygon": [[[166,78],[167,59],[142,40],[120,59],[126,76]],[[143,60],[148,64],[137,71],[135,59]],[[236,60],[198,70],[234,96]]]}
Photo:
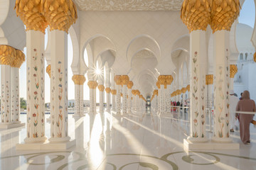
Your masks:
{"label": "white columns with gold capitals cut off by the left photo edge", "polygon": [[1,64],[1,122],[0,128],[23,126],[19,120],[19,68],[25,62],[25,55],[9,45],[0,45]]}

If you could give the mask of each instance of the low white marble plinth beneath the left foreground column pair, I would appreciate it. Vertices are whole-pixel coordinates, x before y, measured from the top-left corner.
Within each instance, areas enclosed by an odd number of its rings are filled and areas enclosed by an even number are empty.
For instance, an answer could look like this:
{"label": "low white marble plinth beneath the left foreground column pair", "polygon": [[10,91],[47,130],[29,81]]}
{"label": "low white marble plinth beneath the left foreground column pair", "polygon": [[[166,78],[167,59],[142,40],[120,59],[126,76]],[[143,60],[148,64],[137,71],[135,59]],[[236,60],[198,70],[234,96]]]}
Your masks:
{"label": "low white marble plinth beneath the left foreground column pair", "polygon": [[73,146],[75,146],[75,140],[58,143],[52,143],[46,140],[46,142],[39,143],[16,144],[16,150],[65,150]]}

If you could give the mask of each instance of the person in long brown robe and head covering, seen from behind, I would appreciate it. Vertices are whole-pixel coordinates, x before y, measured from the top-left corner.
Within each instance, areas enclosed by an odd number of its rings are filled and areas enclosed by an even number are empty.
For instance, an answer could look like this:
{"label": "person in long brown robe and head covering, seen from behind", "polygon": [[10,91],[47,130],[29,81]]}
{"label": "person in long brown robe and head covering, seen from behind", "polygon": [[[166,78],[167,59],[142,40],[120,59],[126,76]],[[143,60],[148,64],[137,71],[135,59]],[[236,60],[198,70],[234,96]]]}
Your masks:
{"label": "person in long brown robe and head covering, seen from behind", "polygon": [[[255,101],[250,99],[249,91],[242,93],[242,100],[238,101],[236,111],[255,112]],[[240,138],[244,144],[250,143],[250,122],[254,115],[240,114]]]}

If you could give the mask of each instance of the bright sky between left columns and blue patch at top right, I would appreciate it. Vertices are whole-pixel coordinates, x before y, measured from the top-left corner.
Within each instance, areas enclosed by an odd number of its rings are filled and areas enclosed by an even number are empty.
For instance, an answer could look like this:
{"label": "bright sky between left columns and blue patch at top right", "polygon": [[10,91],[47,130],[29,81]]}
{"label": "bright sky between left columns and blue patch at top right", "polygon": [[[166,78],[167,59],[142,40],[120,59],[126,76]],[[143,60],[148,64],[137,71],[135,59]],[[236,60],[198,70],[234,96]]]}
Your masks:
{"label": "bright sky between left columns and blue patch at top right", "polygon": [[[245,0],[245,3],[242,6],[242,10],[240,11],[240,16],[238,18],[239,23],[245,23],[248,26],[251,26],[254,28],[255,25],[255,4],[253,0]],[[48,41],[47,39],[47,33],[46,33],[46,43]],[[26,49],[24,49],[24,53],[26,55]],[[87,58],[87,52],[85,52],[85,60]],[[71,63],[73,60],[73,47],[72,47],[72,42],[70,39],[70,36],[68,35],[68,99],[72,100],[75,99],[75,86],[72,81],[73,73],[71,70]],[[46,64],[47,66],[47,64]],[[46,74],[46,86],[45,86],[45,98],[46,98],[46,103],[50,102],[50,78],[47,73]],[[26,98],[26,62],[22,64],[21,69],[20,69],[20,96],[23,98]],[[87,76],[85,75],[86,81],[84,84],[84,100],[89,100],[89,88],[87,86]],[[97,91],[97,96],[98,96],[98,91]],[[99,98],[97,97],[97,102],[99,102]]]}

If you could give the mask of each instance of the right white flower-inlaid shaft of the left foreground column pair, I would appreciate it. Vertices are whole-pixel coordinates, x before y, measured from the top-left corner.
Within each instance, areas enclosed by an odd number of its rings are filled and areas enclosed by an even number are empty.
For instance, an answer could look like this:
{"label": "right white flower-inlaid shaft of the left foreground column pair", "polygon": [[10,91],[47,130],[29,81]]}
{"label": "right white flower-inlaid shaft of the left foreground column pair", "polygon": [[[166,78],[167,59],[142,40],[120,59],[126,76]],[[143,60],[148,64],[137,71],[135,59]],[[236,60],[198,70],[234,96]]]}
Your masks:
{"label": "right white flower-inlaid shaft of the left foreground column pair", "polygon": [[68,142],[68,34],[50,33],[51,101],[50,142]]}

